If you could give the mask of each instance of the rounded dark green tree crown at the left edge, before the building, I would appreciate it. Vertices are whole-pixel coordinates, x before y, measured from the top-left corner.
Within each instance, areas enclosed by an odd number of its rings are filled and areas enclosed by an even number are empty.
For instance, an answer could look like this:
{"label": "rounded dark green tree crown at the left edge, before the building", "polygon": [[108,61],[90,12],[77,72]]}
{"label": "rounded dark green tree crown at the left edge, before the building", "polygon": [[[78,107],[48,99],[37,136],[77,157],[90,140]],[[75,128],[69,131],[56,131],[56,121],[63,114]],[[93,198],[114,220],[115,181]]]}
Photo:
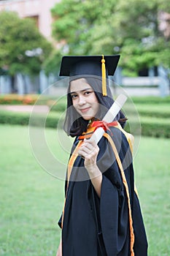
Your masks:
{"label": "rounded dark green tree crown at the left edge, before the building", "polygon": [[[0,69],[9,75],[16,72],[37,74],[52,46],[39,33],[31,19],[20,19],[15,12],[0,12]],[[38,56],[26,56],[26,50],[42,49]]]}

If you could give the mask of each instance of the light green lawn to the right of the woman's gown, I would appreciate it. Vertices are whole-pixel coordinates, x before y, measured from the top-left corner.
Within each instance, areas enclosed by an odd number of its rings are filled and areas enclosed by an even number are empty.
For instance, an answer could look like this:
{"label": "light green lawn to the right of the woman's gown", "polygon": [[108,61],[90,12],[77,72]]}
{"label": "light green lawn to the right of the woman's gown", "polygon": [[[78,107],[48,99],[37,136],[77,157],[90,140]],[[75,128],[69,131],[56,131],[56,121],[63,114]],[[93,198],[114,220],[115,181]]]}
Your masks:
{"label": "light green lawn to the right of the woman's gown", "polygon": [[170,255],[170,140],[142,138],[134,159],[150,256]]}

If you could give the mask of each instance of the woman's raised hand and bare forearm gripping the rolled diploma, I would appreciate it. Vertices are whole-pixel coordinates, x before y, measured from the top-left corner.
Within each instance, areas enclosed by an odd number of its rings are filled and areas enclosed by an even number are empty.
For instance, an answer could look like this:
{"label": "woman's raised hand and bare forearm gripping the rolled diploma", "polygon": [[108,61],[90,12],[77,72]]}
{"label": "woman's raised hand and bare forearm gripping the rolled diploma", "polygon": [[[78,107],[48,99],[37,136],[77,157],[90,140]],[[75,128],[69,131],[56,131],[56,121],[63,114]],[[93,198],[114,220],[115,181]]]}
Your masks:
{"label": "woman's raised hand and bare forearm gripping the rolled diploma", "polygon": [[102,174],[97,166],[99,148],[95,140],[84,140],[78,154],[85,159],[85,168],[88,171],[90,180],[96,190],[98,197],[101,195]]}

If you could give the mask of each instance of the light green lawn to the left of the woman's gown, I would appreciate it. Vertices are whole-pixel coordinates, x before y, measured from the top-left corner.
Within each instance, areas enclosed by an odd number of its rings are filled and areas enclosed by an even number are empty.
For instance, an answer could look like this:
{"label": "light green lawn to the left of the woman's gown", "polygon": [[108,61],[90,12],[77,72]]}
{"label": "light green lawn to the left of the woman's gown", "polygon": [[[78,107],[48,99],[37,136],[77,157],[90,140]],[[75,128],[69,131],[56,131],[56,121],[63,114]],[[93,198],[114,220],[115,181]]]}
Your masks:
{"label": "light green lawn to the left of the woman's gown", "polygon": [[63,181],[37,164],[28,127],[1,125],[0,131],[0,255],[55,255]]}

